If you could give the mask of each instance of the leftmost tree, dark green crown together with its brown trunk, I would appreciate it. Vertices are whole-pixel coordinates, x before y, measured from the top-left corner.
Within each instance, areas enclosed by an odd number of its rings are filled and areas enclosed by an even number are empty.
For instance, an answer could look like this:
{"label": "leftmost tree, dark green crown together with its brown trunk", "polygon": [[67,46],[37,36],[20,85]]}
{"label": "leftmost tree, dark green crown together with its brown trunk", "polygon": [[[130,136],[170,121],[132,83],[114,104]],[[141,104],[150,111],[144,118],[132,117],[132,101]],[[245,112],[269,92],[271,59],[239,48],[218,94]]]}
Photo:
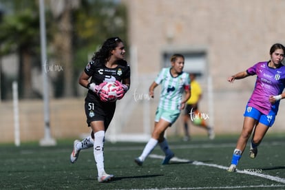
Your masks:
{"label": "leftmost tree, dark green crown together with its brown trunk", "polygon": [[19,95],[31,98],[32,60],[39,52],[39,14],[34,11],[34,1],[6,3],[8,8],[4,10],[0,24],[0,55],[19,55],[19,74],[15,78],[19,83]]}

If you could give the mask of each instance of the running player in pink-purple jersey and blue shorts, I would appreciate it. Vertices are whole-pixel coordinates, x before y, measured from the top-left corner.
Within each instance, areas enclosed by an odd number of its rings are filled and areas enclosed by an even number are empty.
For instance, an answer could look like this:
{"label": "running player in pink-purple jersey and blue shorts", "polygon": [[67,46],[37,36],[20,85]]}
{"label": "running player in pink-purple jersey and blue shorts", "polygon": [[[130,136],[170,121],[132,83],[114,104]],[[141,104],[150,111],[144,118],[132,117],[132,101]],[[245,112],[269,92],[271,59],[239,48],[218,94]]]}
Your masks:
{"label": "running player in pink-purple jersey and blue shorts", "polygon": [[242,133],[237,140],[237,145],[233,151],[231,166],[228,171],[236,171],[237,163],[242,157],[251,134],[251,148],[249,156],[257,156],[257,146],[264,138],[266,131],[275,121],[278,112],[279,102],[285,98],[282,93],[285,87],[285,67],[282,65],[285,47],[280,43],[275,43],[270,49],[270,61],[259,62],[249,67],[248,70],[239,72],[228,78],[230,83],[235,79],[246,78],[257,75],[253,94],[249,98],[244,112],[244,124]]}

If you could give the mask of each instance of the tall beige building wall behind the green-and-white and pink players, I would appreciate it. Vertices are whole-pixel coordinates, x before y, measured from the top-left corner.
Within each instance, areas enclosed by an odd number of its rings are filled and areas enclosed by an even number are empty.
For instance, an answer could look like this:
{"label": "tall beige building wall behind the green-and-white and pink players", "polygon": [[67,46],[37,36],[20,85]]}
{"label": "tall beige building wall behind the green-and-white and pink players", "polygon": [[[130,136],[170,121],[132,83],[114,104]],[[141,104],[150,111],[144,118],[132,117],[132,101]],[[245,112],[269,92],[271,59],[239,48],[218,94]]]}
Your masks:
{"label": "tall beige building wall behind the green-and-white and pink players", "polygon": [[[155,76],[163,66],[165,51],[202,50],[207,57],[208,76],[203,76],[206,83],[202,84],[201,109],[212,110],[209,116],[218,133],[240,131],[255,77],[233,84],[226,79],[258,61],[269,60],[273,43],[285,44],[282,30],[285,1],[123,0],[123,3],[128,8],[128,40],[132,48],[129,53],[136,52],[136,59],[130,62],[133,81],[145,74]],[[211,83],[207,83],[207,78],[211,78]],[[212,85],[211,92],[208,85]],[[151,105],[155,107],[156,103]],[[273,130],[285,130],[283,110],[281,103]],[[180,131],[181,125],[178,120],[176,126]]]}

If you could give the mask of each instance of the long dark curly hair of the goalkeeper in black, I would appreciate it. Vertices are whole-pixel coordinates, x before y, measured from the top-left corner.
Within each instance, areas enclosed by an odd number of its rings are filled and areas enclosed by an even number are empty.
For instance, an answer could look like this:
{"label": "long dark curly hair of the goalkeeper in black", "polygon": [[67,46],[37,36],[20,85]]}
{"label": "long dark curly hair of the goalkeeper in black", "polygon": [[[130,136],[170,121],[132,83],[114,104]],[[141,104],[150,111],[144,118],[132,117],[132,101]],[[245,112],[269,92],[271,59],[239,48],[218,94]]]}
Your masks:
{"label": "long dark curly hair of the goalkeeper in black", "polygon": [[105,63],[109,61],[110,57],[112,56],[112,50],[115,50],[118,46],[118,43],[123,42],[119,37],[112,37],[107,39],[100,50],[94,53],[92,57],[92,61],[98,59],[101,63]]}

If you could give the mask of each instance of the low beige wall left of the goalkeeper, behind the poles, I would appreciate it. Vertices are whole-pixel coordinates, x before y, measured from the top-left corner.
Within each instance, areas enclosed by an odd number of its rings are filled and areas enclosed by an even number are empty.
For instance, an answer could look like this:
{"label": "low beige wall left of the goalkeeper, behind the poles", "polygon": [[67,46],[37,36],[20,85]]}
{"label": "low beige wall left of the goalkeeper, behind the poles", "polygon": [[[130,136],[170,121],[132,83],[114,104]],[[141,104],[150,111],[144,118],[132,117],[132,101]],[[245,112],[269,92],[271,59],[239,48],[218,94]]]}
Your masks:
{"label": "low beige wall left of the goalkeeper, behind the poles", "polygon": [[[12,101],[0,103],[0,143],[14,142]],[[90,132],[84,113],[84,99],[50,101],[50,135],[52,138],[75,138]],[[21,142],[41,140],[45,136],[43,101],[19,101],[19,134]]]}

